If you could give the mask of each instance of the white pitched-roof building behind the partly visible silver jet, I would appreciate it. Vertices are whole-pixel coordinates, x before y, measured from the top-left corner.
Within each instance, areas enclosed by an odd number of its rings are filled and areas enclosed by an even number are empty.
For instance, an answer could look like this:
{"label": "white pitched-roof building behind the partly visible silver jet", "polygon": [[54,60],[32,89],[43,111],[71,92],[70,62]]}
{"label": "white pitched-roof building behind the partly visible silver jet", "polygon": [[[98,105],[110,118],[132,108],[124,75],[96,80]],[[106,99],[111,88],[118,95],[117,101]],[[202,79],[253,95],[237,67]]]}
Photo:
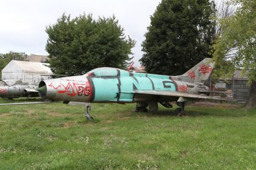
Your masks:
{"label": "white pitched-roof building behind the partly visible silver jet", "polygon": [[2,69],[2,80],[17,79],[31,83],[51,79],[49,63],[12,60]]}

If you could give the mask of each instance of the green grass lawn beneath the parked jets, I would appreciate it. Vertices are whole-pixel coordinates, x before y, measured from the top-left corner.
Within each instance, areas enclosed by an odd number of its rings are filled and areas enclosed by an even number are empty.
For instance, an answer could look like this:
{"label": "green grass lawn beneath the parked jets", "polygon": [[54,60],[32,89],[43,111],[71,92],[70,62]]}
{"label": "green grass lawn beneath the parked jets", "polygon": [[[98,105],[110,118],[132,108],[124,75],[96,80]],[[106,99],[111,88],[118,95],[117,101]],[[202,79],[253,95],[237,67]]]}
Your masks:
{"label": "green grass lawn beneath the parked jets", "polygon": [[0,106],[0,169],[256,169],[256,108],[134,108],[93,104],[88,122],[82,105]]}

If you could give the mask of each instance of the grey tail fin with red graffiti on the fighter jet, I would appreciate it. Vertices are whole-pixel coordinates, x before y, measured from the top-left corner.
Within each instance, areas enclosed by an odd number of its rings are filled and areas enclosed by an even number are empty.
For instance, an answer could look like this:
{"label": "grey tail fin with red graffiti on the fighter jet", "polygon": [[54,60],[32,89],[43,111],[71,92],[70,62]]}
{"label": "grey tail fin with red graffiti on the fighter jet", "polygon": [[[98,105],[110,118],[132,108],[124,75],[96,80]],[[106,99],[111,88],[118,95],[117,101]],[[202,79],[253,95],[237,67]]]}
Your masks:
{"label": "grey tail fin with red graffiti on the fighter jet", "polygon": [[188,82],[204,83],[213,70],[213,59],[204,58],[202,62],[193,66],[190,70],[182,75],[182,79]]}

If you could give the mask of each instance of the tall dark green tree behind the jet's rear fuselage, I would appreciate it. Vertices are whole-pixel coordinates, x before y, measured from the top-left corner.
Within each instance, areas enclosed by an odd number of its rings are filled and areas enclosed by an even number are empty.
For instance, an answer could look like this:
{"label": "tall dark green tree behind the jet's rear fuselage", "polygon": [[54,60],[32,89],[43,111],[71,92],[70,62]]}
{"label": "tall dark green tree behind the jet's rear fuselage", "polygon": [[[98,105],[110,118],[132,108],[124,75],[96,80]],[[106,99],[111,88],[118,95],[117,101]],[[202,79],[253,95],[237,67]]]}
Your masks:
{"label": "tall dark green tree behind the jet's rear fuselage", "polygon": [[208,0],[162,0],[151,16],[140,62],[148,73],[183,74],[205,57],[212,57],[215,34]]}

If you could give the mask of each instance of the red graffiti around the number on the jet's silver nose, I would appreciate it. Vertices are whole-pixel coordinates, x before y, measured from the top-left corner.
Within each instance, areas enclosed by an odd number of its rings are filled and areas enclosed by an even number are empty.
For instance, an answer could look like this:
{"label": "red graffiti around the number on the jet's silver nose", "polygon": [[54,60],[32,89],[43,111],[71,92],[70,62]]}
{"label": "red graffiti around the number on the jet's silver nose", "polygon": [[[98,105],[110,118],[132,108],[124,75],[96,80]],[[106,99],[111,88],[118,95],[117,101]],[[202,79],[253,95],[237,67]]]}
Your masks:
{"label": "red graffiti around the number on the jet's silver nose", "polygon": [[49,84],[48,87],[52,87],[55,90],[59,89],[59,88],[64,88],[64,90],[59,90],[58,93],[66,93],[66,95],[69,96],[90,96],[91,94],[91,86],[89,82],[85,82],[85,83],[70,83],[68,82],[68,84],[65,86],[62,83],[60,83],[60,85],[58,85],[57,87],[54,87],[54,85]]}

